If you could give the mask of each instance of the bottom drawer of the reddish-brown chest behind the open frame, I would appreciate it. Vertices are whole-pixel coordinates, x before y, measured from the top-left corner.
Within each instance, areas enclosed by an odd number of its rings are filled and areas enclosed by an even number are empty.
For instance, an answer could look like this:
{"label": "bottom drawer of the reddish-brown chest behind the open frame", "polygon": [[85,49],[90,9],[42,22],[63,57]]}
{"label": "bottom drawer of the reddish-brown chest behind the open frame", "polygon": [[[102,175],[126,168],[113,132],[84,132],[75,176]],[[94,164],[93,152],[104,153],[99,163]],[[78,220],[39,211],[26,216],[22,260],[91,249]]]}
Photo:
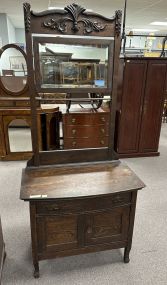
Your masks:
{"label": "bottom drawer of the reddish-brown chest behind the open frame", "polygon": [[108,137],[64,138],[65,149],[99,148],[108,146]]}

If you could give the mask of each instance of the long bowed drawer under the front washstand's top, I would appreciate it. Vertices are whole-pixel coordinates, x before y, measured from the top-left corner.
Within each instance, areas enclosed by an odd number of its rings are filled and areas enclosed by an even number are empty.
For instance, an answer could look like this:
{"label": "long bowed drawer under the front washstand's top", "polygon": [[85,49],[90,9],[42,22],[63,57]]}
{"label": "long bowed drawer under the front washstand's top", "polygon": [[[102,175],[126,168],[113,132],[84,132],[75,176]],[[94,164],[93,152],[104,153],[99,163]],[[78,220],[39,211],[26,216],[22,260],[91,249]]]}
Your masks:
{"label": "long bowed drawer under the front washstand's top", "polygon": [[37,214],[72,214],[111,209],[131,203],[131,192],[117,193],[106,197],[41,201],[36,203]]}

